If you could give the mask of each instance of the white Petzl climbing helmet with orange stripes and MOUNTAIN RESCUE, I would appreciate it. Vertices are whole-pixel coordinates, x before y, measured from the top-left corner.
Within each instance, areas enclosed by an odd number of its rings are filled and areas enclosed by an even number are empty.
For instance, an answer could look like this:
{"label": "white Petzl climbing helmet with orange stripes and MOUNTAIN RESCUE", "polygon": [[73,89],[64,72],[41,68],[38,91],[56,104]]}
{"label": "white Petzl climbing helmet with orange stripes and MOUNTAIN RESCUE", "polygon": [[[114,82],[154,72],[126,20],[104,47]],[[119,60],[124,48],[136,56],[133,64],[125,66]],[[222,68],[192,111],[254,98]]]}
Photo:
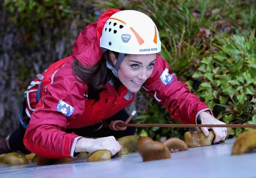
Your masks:
{"label": "white Petzl climbing helmet with orange stripes and MOUNTAIN RESCUE", "polygon": [[152,54],[161,51],[160,35],[148,15],[135,10],[116,12],[106,22],[100,47],[123,54]]}

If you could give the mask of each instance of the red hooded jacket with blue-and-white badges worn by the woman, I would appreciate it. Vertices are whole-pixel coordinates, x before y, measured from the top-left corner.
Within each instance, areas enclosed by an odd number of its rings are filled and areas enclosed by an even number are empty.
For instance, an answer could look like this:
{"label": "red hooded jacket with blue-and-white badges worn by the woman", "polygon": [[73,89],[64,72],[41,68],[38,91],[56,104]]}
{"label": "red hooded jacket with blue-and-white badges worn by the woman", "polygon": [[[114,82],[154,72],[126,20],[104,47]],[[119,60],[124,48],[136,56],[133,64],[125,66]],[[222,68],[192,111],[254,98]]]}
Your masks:
{"label": "red hooded jacket with blue-and-white badges worn by the woman", "polygon": [[[102,56],[99,39],[108,18],[117,9],[106,11],[98,21],[89,24],[74,43],[72,56],[53,63],[43,72],[40,85],[41,98],[36,102],[40,77],[28,87],[26,113],[31,117],[24,136],[28,150],[43,157],[74,157],[74,148],[81,136],[65,133],[66,128],[80,128],[108,119],[133,102],[134,93],[121,85],[118,92],[107,83],[106,90],[100,93],[95,104],[86,95],[86,84],[79,83],[73,75],[72,62],[78,59],[83,65],[96,64]],[[168,73],[169,70],[169,73]],[[166,60],[157,56],[151,77],[143,89],[163,104],[170,116],[184,124],[195,123],[195,117],[203,110],[209,110],[188,86],[177,81],[177,77]],[[108,102],[106,102],[108,98]],[[33,108],[36,108],[33,110]]]}

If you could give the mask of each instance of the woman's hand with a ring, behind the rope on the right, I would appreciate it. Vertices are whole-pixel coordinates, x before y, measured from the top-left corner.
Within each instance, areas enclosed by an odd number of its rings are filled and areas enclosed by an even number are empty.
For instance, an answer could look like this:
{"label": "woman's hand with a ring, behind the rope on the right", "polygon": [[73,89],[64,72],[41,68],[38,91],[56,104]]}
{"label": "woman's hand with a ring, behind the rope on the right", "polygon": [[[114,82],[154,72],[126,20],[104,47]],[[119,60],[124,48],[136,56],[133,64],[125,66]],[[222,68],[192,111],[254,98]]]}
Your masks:
{"label": "woman's hand with a ring, behind the rope on the right", "polygon": [[[214,118],[212,115],[210,115],[207,112],[202,112],[199,114],[199,120],[201,121],[201,124],[225,124],[224,122],[219,121],[218,119]],[[204,132],[205,136],[209,135],[209,128],[200,128],[201,131]],[[227,128],[211,128],[213,129],[213,132],[215,134],[215,139],[213,143],[217,143],[219,141],[222,141],[227,136]]]}

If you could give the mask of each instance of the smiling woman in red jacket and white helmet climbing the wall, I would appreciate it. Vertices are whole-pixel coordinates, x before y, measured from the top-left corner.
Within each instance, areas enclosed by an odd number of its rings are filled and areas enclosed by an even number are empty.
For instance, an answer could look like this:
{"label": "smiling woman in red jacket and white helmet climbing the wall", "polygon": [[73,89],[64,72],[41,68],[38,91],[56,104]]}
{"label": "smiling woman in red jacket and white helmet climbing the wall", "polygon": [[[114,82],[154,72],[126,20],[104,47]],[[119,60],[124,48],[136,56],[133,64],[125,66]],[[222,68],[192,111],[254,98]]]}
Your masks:
{"label": "smiling woman in red jacket and white helmet climbing the wall", "polygon": [[[107,149],[114,155],[121,148],[116,138],[133,135],[135,128],[111,131],[100,127],[101,122],[126,120],[124,108],[141,88],[183,124],[225,124],[177,81],[157,55],[160,50],[157,27],[147,15],[133,10],[104,12],[79,34],[72,56],[50,65],[31,82],[21,126],[2,139],[1,152],[74,158],[81,151]],[[212,129],[215,143],[225,139],[226,128]],[[201,130],[208,136],[207,128]]]}

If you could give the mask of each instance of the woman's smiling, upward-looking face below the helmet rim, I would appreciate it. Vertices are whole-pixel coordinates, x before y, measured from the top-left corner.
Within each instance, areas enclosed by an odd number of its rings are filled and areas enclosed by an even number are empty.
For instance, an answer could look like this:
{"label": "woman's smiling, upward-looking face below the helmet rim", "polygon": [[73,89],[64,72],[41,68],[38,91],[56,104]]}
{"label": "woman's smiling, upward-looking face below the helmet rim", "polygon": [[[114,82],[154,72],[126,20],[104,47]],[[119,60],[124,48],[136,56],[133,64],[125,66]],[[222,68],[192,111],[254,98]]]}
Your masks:
{"label": "woman's smiling, upward-looking face below the helmet rim", "polygon": [[[142,84],[151,76],[156,54],[126,54],[117,71],[119,80],[131,92],[138,92]],[[116,61],[113,62],[114,64]]]}

